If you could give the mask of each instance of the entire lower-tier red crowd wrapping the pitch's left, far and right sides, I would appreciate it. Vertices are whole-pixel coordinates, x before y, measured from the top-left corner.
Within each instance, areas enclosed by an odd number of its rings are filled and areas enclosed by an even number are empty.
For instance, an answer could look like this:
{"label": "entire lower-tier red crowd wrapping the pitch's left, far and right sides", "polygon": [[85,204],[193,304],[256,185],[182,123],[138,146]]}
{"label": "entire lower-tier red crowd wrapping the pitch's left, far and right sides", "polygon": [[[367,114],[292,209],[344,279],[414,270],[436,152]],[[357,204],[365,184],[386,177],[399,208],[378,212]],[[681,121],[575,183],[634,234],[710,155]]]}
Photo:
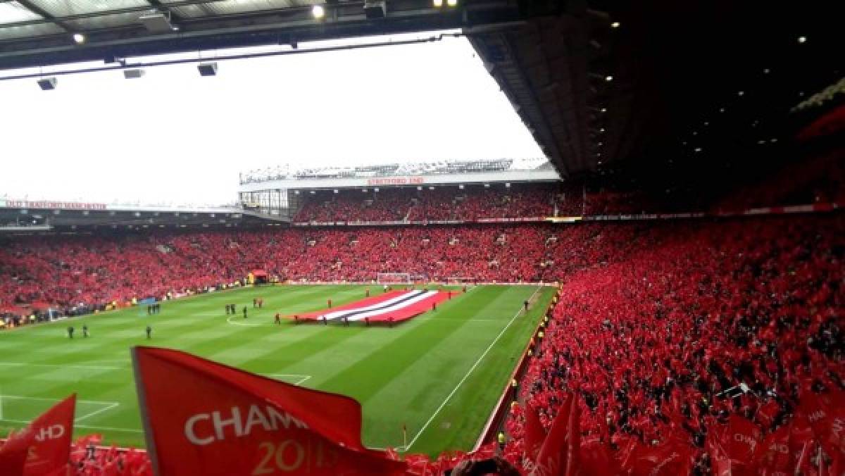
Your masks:
{"label": "entire lower-tier red crowd wrapping the pitch's left, far and right sides", "polygon": [[[163,297],[255,267],[310,281],[395,271],[559,281],[521,401],[548,427],[575,391],[584,437],[621,452],[682,435],[703,474],[708,435],[729,415],[766,435],[790,422],[806,392],[845,389],[843,259],[839,213],[11,238],[0,247],[0,304]],[[523,457],[521,408],[506,424],[513,462]]]}

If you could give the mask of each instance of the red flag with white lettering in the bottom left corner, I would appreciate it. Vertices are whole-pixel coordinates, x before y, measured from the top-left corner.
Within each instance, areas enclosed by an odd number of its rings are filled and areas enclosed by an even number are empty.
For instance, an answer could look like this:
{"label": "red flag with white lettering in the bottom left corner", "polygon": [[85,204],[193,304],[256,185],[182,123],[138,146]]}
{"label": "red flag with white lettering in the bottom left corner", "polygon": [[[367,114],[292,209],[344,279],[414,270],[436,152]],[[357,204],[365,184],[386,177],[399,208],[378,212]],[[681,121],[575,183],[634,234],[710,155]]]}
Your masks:
{"label": "red flag with white lettering in the bottom left corner", "polygon": [[[76,394],[42,413],[0,449],[0,474],[54,476],[68,471]],[[20,458],[24,465],[19,467]]]}

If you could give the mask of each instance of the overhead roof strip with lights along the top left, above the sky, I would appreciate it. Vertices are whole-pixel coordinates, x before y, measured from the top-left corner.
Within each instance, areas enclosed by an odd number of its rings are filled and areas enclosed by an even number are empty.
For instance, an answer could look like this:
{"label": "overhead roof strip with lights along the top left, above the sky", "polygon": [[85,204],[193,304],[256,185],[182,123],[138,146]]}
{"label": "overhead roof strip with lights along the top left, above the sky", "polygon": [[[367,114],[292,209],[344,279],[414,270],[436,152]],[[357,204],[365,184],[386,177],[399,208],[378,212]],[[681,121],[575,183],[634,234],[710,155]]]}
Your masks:
{"label": "overhead roof strip with lights along the top left, above the sky", "polygon": [[[388,0],[373,18],[355,0],[0,0],[0,68],[215,48],[296,45],[302,41],[447,30],[519,18],[508,2]],[[324,7],[315,18],[314,4]],[[142,16],[164,14],[166,22]],[[369,17],[369,18],[368,18]],[[159,28],[170,25],[172,28]],[[74,34],[84,34],[83,42]]]}

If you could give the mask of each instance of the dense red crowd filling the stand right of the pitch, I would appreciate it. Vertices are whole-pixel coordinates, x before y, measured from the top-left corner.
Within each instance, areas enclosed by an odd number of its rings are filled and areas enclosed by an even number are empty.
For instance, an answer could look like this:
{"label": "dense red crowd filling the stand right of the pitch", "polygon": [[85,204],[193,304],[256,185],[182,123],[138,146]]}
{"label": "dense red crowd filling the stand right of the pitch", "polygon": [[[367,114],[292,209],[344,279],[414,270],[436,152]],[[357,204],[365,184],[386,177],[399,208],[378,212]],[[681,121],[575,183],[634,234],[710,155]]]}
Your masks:
{"label": "dense red crowd filling the stand right of the pitch", "polygon": [[[522,402],[547,428],[574,391],[582,439],[621,458],[680,437],[688,467],[709,474],[708,435],[730,415],[768,436],[808,392],[845,390],[842,216],[624,229],[635,249],[591,243],[606,265],[565,276],[522,380]],[[513,462],[523,408],[506,425]]]}

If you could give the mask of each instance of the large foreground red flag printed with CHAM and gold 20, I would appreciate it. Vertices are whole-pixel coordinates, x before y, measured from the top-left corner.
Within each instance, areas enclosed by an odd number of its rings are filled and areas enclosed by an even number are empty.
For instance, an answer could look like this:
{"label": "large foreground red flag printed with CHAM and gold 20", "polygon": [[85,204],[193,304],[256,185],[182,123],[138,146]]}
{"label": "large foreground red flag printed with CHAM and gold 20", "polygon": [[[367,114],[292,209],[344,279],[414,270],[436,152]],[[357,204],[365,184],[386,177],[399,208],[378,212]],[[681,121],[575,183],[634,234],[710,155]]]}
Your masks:
{"label": "large foreground red flag printed with CHAM and gold 20", "polygon": [[134,347],[155,474],[404,474],[361,443],[361,405],[216,364]]}

